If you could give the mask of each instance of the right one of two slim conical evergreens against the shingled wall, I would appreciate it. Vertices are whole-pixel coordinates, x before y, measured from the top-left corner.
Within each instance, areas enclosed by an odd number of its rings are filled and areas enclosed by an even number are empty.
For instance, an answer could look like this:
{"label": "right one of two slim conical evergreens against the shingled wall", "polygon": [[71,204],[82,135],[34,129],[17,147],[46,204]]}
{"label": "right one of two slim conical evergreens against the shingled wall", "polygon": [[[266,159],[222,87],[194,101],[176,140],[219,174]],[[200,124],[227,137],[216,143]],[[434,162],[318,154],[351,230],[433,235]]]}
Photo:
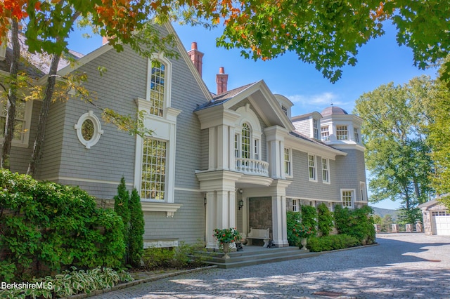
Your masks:
{"label": "right one of two slim conical evergreens against the shingled wall", "polygon": [[136,188],[131,192],[129,199],[129,263],[133,267],[141,265],[143,255],[144,220],[141,206],[141,197]]}

